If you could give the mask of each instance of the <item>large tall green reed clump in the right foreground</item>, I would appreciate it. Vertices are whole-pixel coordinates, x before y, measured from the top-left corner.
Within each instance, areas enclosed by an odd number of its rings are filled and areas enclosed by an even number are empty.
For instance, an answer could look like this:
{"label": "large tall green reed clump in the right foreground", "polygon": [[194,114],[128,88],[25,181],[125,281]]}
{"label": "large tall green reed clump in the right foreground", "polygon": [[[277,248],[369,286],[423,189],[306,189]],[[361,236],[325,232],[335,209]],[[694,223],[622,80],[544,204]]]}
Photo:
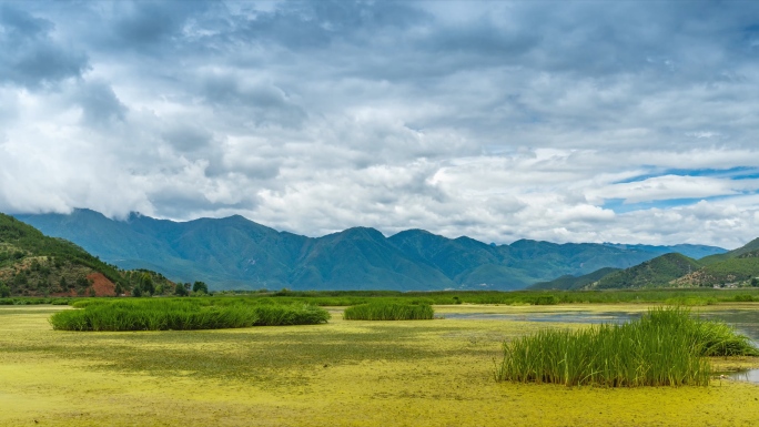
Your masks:
{"label": "large tall green reed clump in the right foreground", "polygon": [[704,356],[757,354],[723,323],[680,307],[650,309],[623,325],[542,331],[504,344],[496,380],[605,387],[707,386]]}

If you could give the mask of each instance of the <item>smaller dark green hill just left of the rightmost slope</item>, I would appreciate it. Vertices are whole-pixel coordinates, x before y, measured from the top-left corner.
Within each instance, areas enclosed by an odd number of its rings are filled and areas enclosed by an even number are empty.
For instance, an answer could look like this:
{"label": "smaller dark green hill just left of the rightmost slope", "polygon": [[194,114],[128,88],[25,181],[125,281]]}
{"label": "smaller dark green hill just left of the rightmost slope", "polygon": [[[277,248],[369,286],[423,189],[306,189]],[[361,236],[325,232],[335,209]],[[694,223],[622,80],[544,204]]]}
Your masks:
{"label": "smaller dark green hill just left of the rightmost slope", "polygon": [[686,274],[698,271],[701,264],[681,254],[665,254],[640,265],[611,273],[586,288],[640,288],[667,287],[669,283]]}

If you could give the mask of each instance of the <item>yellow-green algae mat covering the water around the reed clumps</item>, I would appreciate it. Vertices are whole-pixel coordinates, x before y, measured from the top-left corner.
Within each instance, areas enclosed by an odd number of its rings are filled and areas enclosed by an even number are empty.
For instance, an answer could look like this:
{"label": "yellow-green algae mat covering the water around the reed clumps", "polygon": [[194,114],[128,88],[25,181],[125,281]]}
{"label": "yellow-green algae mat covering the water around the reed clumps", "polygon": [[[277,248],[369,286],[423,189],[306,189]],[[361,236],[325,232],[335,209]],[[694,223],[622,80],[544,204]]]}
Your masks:
{"label": "yellow-green algae mat covering the water around the reed clumps", "polygon": [[[645,309],[605,307],[638,308]],[[57,309],[65,308],[0,308],[0,426],[752,426],[759,419],[759,387],[738,382],[621,389],[495,383],[500,343],[548,324],[333,315],[314,326],[68,333],[47,323]]]}

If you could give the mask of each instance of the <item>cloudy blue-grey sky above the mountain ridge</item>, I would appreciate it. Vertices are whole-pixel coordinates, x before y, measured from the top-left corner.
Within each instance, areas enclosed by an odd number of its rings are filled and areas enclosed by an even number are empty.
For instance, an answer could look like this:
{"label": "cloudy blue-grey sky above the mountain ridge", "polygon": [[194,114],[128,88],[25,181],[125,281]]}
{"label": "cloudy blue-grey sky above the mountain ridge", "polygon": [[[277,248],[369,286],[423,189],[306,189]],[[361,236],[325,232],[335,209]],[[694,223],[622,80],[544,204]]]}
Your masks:
{"label": "cloudy blue-grey sky above the mountain ridge", "polygon": [[759,237],[757,1],[0,0],[0,211]]}

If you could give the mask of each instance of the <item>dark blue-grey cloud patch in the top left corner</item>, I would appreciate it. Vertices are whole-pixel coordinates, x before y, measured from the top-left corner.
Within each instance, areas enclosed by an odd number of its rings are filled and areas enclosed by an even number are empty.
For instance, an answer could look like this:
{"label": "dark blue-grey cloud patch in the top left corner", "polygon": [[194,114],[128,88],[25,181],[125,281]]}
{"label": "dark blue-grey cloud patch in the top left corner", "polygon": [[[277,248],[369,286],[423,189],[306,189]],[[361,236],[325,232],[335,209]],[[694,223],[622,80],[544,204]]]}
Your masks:
{"label": "dark blue-grey cloud patch in the top left corner", "polygon": [[51,21],[14,6],[0,4],[0,82],[36,88],[88,69],[87,55],[50,38]]}

